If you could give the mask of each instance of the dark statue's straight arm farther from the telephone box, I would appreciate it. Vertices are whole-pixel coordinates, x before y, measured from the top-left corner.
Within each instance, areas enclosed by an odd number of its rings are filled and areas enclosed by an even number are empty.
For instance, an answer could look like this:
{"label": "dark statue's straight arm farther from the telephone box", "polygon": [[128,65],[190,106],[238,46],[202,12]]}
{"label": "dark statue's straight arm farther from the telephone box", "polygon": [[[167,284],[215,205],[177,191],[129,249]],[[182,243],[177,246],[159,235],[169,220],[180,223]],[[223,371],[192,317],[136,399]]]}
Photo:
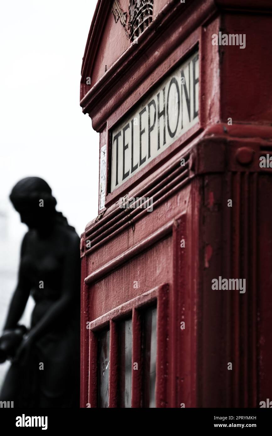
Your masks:
{"label": "dark statue's straight arm farther from the telephone box", "polygon": [[[28,238],[28,233],[24,236],[22,246],[21,246],[21,258],[24,255],[25,245]],[[20,259],[20,267],[18,274],[18,283],[17,287],[14,291],[12,299],[10,301],[10,307],[7,313],[6,323],[4,324],[4,330],[13,329],[16,327],[18,321],[21,319],[22,314],[24,313],[24,309],[28,302],[28,297],[30,294],[31,285],[28,279],[24,276],[24,272],[21,267],[21,259]]]}

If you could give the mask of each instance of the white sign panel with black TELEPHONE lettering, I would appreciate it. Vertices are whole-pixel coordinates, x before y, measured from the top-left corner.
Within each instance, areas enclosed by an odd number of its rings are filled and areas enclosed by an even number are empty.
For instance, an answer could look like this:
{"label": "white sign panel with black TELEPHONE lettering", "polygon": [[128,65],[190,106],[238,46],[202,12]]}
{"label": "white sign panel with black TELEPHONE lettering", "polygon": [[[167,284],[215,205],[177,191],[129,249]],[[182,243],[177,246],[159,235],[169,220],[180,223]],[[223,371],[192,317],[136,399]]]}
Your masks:
{"label": "white sign panel with black TELEPHONE lettering", "polygon": [[176,68],[111,136],[111,192],[198,122],[199,54]]}

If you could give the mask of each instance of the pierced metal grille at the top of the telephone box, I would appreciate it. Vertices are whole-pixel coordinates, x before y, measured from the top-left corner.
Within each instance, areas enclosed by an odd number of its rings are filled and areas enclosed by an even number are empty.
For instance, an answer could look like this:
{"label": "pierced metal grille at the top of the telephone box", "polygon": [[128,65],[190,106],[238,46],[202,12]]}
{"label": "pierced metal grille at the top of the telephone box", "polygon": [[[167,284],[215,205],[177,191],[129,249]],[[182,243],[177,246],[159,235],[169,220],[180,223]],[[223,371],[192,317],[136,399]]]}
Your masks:
{"label": "pierced metal grille at the top of the telephone box", "polygon": [[130,0],[128,11],[129,37],[133,42],[152,21],[153,0]]}

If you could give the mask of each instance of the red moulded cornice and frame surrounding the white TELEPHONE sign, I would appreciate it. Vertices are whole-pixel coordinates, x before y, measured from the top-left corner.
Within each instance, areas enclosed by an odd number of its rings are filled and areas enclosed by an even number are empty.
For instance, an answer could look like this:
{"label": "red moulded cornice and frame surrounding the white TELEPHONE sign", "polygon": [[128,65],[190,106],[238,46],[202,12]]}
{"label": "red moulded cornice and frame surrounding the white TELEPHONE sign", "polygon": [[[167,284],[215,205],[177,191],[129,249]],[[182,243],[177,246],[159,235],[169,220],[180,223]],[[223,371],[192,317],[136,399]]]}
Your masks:
{"label": "red moulded cornice and frame surrounding the white TELEPHONE sign", "polygon": [[[188,3],[189,4],[189,3]],[[124,116],[133,110],[167,75],[178,65],[193,54],[197,49],[200,57],[200,78],[204,77],[205,70],[214,63],[217,68],[217,59],[210,58],[207,51],[207,41],[203,27],[199,23],[208,22],[215,14],[216,8],[212,0],[205,1],[193,14],[186,11],[184,4],[169,1],[159,12],[143,34],[138,38],[138,44],[131,44],[118,61],[103,75],[87,94],[81,95],[81,106],[84,113],[92,117],[92,125],[100,132],[100,147],[107,145],[107,180],[105,206],[108,208],[114,201],[124,196],[138,183],[161,167],[182,146],[185,147],[197,134],[203,130],[208,121],[206,99],[199,99],[199,121],[186,133],[164,150],[158,157],[149,162],[142,170],[134,174],[120,187],[110,192],[110,164],[112,129],[120,123]],[[182,11],[182,13],[181,13]],[[180,16],[179,16],[180,15]],[[179,16],[179,19],[176,17]],[[171,24],[169,24],[171,23]],[[216,19],[216,25],[218,22]],[[162,32],[162,39],[158,39],[158,28]],[[154,53],[156,53],[154,55]],[[203,70],[203,71],[202,71]],[[89,75],[89,74],[88,74]],[[217,77],[213,79],[213,86],[218,85]],[[116,82],[118,85],[116,85]],[[120,83],[126,86],[120,91]],[[118,91],[116,90],[116,86]],[[205,95],[207,84],[201,79],[199,82],[199,95]],[[84,95],[84,96],[83,96]],[[213,110],[217,112],[217,106]],[[210,115],[210,111],[209,111]],[[218,114],[216,113],[218,118]],[[106,210],[106,209],[103,209]],[[102,209],[99,211],[102,212]]]}

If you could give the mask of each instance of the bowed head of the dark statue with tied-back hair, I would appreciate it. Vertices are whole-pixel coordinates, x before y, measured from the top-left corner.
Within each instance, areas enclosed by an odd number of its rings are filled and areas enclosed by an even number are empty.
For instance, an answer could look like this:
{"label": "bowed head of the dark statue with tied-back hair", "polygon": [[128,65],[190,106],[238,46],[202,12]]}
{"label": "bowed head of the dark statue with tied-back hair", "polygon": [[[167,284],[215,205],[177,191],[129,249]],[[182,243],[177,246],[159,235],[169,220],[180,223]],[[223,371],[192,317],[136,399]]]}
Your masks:
{"label": "bowed head of the dark statue with tied-back hair", "polygon": [[52,190],[40,177],[20,180],[10,193],[10,201],[29,228],[47,227],[56,214]]}

